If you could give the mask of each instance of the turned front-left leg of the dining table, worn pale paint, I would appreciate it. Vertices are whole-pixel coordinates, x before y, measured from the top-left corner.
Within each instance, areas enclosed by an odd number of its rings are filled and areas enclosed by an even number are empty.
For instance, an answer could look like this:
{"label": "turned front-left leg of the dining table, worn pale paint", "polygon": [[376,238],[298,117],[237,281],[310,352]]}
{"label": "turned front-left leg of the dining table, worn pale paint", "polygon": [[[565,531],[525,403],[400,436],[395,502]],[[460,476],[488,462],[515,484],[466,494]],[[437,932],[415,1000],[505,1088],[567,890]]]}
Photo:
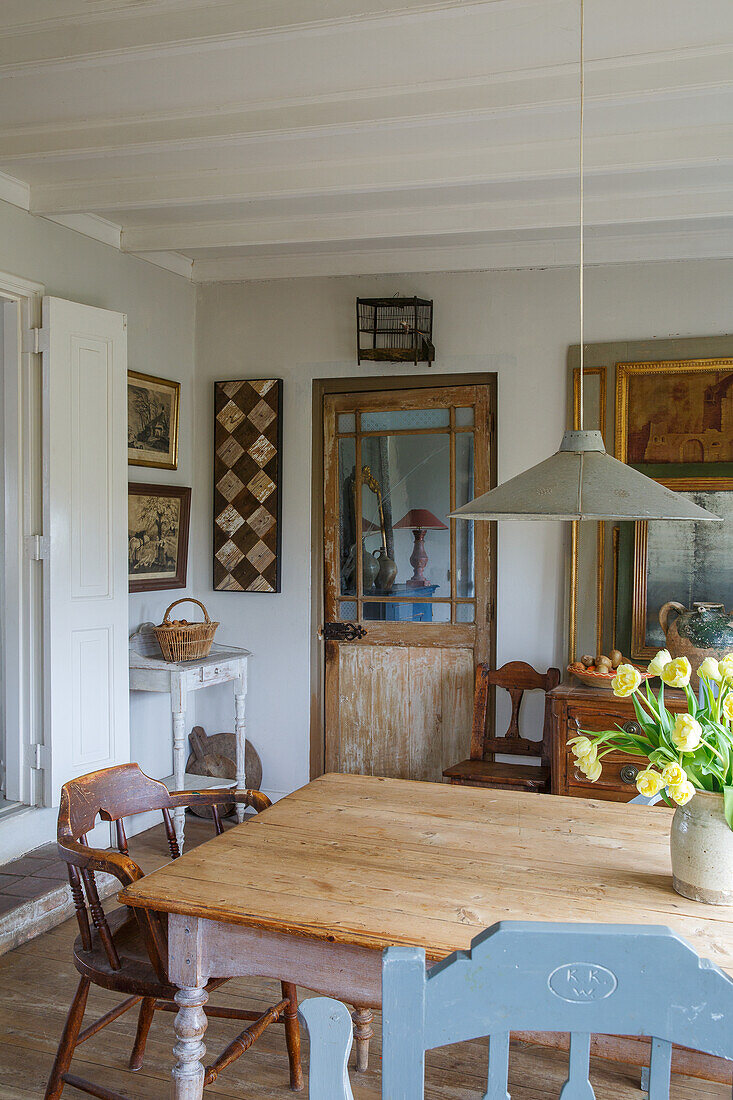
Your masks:
{"label": "turned front-left leg of the dining table, worn pale paint", "polygon": [[205,922],[195,916],[172,913],[168,917],[168,975],[178,986],[172,1100],[201,1100],[204,1096],[204,1005],[208,1000],[206,983],[209,979],[204,969],[204,925]]}

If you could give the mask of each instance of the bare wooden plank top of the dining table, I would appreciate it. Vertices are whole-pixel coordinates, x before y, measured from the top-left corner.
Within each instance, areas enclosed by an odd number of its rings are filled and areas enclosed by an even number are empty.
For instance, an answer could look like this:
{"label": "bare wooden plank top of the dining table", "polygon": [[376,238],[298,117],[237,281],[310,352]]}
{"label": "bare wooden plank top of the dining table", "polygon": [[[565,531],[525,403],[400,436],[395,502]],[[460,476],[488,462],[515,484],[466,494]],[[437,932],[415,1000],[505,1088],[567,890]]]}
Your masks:
{"label": "bare wooden plank top of the dining table", "polygon": [[666,807],[321,776],[120,894],[382,948],[466,949],[496,921],[666,924],[733,974],[733,906],[671,887]]}

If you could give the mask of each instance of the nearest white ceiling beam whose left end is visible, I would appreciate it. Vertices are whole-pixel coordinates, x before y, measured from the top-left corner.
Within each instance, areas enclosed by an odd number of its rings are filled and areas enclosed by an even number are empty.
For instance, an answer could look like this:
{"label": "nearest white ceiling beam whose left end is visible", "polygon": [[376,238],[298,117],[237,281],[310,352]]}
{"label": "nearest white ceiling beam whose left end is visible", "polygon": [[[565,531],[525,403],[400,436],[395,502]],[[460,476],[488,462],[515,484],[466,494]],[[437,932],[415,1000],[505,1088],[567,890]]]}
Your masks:
{"label": "nearest white ceiling beam whose left end is visible", "polygon": [[[659,169],[719,167],[733,163],[733,125],[611,134],[586,144],[586,172],[599,176],[654,173]],[[0,165],[1,166],[1,165]],[[381,160],[318,161],[258,169],[155,174],[123,178],[70,179],[33,184],[34,213],[86,213],[125,209],[214,207],[274,197],[369,195],[468,184],[571,178],[578,172],[576,141],[535,142],[491,148],[434,151]],[[650,178],[650,186],[654,180]],[[199,218],[198,220],[205,220]]]}

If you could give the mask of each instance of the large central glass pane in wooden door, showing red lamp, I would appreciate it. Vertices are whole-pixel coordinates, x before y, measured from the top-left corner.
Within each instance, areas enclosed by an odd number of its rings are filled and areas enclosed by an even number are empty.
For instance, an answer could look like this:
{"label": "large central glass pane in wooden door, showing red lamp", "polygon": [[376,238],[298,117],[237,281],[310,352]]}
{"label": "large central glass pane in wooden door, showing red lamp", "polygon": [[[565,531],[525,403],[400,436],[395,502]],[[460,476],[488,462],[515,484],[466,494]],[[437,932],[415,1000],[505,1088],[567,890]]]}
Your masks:
{"label": "large central glass pane in wooden door, showing red lamp", "polygon": [[361,454],[373,486],[364,513],[379,526],[366,539],[381,564],[375,591],[449,596],[450,436],[370,436]]}

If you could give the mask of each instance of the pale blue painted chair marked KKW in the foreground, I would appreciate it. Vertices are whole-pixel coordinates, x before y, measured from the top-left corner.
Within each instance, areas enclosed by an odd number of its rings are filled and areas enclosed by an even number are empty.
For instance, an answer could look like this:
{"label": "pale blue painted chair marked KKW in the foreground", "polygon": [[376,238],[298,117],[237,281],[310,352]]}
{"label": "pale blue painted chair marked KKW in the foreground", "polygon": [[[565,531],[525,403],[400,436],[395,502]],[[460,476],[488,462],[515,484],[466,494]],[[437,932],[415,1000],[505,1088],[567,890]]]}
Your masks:
{"label": "pale blue painted chair marked KKW in the foreground", "polygon": [[[483,1100],[511,1100],[510,1033],[570,1032],[560,1100],[594,1100],[591,1035],[652,1036],[649,1100],[668,1100],[672,1044],[733,1059],[733,979],[669,928],[503,922],[429,971],[416,947],[382,963],[383,1100],[423,1100],[425,1052],[489,1037]],[[310,1100],[352,1100],[351,1018],[314,998]]]}

